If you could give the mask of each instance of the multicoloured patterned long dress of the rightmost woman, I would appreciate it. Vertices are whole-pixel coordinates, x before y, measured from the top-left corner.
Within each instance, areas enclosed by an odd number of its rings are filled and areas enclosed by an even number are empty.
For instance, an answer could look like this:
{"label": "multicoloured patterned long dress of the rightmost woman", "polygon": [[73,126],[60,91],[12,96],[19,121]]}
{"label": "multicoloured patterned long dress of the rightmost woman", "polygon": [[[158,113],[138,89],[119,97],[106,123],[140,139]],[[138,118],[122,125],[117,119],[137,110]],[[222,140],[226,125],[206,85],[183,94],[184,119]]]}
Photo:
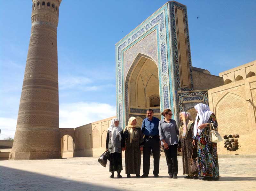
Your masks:
{"label": "multicoloured patterned long dress of the rightmost woman", "polygon": [[[199,120],[200,119],[198,117],[197,123]],[[212,123],[216,130],[218,123],[214,113],[212,113],[207,123]],[[207,127],[210,128],[210,125]],[[205,128],[200,135],[197,132],[196,144],[198,175],[202,177],[220,178],[217,143],[208,141],[208,137],[205,134]]]}

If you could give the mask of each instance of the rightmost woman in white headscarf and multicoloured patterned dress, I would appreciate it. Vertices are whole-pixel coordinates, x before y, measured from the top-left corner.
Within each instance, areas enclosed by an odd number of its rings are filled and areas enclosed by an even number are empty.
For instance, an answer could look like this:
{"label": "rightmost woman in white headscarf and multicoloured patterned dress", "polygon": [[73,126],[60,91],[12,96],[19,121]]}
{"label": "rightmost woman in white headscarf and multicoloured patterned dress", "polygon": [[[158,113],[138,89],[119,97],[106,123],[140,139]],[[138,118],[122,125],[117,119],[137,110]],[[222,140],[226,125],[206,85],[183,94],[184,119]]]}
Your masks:
{"label": "rightmost woman in white headscarf and multicoloured patterned dress", "polygon": [[214,130],[217,129],[216,117],[206,104],[199,103],[195,106],[195,109],[197,115],[193,144],[197,144],[198,175],[204,177],[203,180],[219,180],[217,143],[211,142],[207,135],[207,132],[211,129],[211,124]]}

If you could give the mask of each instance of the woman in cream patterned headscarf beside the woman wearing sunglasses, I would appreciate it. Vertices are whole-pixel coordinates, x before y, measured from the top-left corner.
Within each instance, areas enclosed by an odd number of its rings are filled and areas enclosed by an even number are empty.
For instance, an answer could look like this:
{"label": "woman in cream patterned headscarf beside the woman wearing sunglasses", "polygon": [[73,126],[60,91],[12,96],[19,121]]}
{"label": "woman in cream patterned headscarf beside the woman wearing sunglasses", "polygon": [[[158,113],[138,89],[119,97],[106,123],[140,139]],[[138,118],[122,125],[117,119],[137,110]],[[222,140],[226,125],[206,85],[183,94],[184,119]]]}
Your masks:
{"label": "woman in cream patterned headscarf beside the woman wearing sunglasses", "polygon": [[192,155],[193,149],[193,129],[194,121],[191,118],[190,113],[181,112],[180,113],[180,143],[179,151],[182,151],[182,164],[183,164],[183,174],[188,174],[185,176],[186,179],[198,179],[197,174],[193,174],[190,171],[190,158]]}

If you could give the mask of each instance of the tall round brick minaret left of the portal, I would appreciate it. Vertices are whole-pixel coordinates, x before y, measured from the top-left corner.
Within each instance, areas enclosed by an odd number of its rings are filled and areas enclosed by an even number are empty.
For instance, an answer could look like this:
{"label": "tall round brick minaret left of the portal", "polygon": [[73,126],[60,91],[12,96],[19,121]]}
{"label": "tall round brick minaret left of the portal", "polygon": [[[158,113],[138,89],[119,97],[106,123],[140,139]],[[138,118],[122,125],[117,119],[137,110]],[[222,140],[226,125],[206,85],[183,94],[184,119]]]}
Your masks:
{"label": "tall round brick minaret left of the portal", "polygon": [[60,158],[57,27],[61,0],[32,0],[32,27],[9,159]]}

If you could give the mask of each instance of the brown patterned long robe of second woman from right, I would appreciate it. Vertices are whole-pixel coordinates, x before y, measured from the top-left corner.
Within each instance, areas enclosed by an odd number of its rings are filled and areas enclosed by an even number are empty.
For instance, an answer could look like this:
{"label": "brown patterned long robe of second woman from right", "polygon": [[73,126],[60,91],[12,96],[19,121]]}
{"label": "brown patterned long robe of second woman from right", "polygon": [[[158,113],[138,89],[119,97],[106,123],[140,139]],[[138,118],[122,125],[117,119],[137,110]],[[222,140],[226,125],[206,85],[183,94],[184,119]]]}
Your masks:
{"label": "brown patterned long robe of second woman from right", "polygon": [[[184,125],[181,126],[181,129]],[[190,158],[192,154],[192,141],[193,141],[193,129],[194,129],[194,122],[188,123],[188,134],[186,138],[182,138],[180,136],[180,142],[181,142],[181,149],[182,149],[182,166],[183,166],[183,174],[190,174]]]}

